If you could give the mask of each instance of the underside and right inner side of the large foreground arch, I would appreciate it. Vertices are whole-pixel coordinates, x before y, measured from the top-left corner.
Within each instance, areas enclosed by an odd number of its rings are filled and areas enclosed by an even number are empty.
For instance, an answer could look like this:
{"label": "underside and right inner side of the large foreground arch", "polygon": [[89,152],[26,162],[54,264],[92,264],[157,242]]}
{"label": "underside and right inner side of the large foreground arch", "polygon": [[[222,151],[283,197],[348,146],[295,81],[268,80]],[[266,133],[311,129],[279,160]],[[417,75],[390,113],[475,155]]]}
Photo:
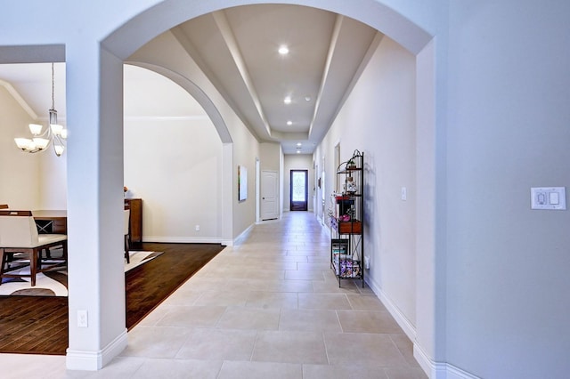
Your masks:
{"label": "underside and right inner side of the large foreground arch", "polygon": [[[167,0],[160,6],[142,12],[102,42],[102,46],[113,55],[125,59],[133,54],[142,44],[152,37],[185,21],[191,20],[203,13],[215,12],[223,8],[248,4],[263,4],[251,0],[228,0],[223,5],[209,4],[207,1],[199,4],[181,4],[176,0]],[[395,12],[386,4],[374,0],[355,0],[352,2],[331,2],[309,0],[289,0],[283,4],[314,6],[330,12],[337,12],[368,24],[394,39],[404,48],[418,57],[417,60],[417,149],[418,149],[418,188],[422,198],[419,202],[419,219],[428,222],[418,222],[417,238],[417,306],[428,316],[419,320],[417,326],[416,358],[423,363],[428,371],[428,363],[444,357],[444,332],[436,330],[437,309],[444,309],[444,303],[436,304],[436,292],[444,288],[444,270],[438,270],[436,246],[441,247],[440,238],[444,238],[444,229],[436,230],[436,46],[430,44],[433,36],[419,28],[411,20]],[[143,26],[143,28],[142,28]],[[231,165],[229,165],[231,169]],[[232,175],[231,170],[225,175]],[[443,175],[443,173],[440,173]],[[443,180],[443,176],[438,178]],[[437,271],[437,274],[436,274]],[[443,293],[443,292],[442,292]],[[441,299],[441,298],[440,298]],[[439,321],[444,319],[443,312],[437,314]]]}

